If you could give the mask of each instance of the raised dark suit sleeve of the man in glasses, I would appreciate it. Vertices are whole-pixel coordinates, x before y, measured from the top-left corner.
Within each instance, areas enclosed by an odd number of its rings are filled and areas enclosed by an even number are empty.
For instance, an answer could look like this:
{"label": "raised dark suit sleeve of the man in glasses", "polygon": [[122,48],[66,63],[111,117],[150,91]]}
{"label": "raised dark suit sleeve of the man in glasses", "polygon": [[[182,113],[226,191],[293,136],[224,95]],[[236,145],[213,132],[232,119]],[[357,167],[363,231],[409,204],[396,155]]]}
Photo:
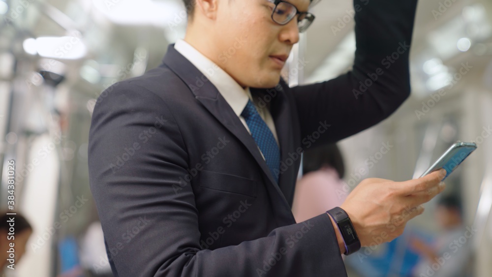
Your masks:
{"label": "raised dark suit sleeve of the man in glasses", "polygon": [[410,94],[416,5],[417,0],[354,0],[357,50],[352,70],[291,89],[301,138],[326,121],[331,126],[314,145],[336,142],[381,122],[403,103]]}

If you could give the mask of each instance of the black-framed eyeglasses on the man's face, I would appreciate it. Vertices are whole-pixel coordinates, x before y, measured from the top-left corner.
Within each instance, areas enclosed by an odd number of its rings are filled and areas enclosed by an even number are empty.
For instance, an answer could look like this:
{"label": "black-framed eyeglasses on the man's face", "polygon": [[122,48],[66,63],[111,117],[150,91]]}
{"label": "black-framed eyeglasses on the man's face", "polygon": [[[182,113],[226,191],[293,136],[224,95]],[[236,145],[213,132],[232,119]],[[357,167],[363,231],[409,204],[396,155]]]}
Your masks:
{"label": "black-framed eyeglasses on the man's face", "polygon": [[289,23],[296,15],[299,32],[304,32],[314,21],[315,16],[309,12],[300,12],[293,4],[282,0],[268,0],[275,4],[272,10],[272,20],[280,25]]}

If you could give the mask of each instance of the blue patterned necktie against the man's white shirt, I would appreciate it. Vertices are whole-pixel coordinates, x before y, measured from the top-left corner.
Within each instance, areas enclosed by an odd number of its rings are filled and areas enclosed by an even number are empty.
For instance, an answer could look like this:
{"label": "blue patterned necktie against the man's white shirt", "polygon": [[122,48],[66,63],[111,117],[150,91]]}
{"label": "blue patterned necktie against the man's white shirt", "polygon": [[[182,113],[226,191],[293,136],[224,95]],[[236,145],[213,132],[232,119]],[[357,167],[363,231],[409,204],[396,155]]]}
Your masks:
{"label": "blue patterned necktie against the man's white shirt", "polygon": [[258,114],[258,111],[251,100],[248,100],[246,108],[243,110],[243,113],[241,113],[241,116],[245,118],[251,136],[260,148],[260,151],[265,157],[265,161],[278,184],[280,149],[278,148],[274,134],[267,126],[267,123],[260,117],[260,114]]}

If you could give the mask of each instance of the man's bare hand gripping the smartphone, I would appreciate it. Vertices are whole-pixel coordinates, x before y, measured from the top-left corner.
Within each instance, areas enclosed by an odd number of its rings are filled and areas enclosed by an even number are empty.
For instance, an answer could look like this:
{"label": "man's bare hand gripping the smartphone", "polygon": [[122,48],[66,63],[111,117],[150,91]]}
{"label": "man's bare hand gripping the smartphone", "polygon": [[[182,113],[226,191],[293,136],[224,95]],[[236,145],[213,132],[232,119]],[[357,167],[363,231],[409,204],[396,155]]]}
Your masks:
{"label": "man's bare hand gripping the smartphone", "polygon": [[362,246],[390,242],[403,233],[406,222],[424,212],[428,202],[445,185],[441,169],[406,182],[363,180],[340,206],[350,216]]}

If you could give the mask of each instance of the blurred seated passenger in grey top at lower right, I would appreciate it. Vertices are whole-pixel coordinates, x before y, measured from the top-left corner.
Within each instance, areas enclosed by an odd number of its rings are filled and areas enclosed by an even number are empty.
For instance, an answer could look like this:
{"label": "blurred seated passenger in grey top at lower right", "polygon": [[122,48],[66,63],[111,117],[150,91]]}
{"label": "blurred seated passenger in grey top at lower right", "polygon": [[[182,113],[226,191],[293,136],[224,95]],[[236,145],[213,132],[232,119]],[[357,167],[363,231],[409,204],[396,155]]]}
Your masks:
{"label": "blurred seated passenger in grey top at lower right", "polygon": [[460,200],[448,195],[439,199],[435,219],[443,229],[431,245],[412,239],[410,246],[421,256],[413,271],[417,277],[465,277],[470,258],[469,239],[473,228],[464,227]]}

